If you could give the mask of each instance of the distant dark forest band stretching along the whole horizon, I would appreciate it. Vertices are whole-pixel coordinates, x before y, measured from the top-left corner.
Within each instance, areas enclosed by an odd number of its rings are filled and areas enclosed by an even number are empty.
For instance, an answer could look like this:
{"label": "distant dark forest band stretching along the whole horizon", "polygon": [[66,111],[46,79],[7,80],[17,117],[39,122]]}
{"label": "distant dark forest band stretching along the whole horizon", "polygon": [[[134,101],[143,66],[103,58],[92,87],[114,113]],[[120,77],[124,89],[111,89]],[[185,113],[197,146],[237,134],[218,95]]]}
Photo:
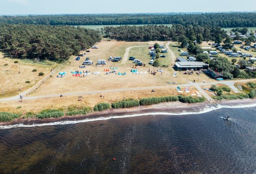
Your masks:
{"label": "distant dark forest band stretching along the whole horizon", "polygon": [[39,25],[210,25],[222,28],[256,27],[256,13],[205,14],[84,14],[0,16],[0,23]]}

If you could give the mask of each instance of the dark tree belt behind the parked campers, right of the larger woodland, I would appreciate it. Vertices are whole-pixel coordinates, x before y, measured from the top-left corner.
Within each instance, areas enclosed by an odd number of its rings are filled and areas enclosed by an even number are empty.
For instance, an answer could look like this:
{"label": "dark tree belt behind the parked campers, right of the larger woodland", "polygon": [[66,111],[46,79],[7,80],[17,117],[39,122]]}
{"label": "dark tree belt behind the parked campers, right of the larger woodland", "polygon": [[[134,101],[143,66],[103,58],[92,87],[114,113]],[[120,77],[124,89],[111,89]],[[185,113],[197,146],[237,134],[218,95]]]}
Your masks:
{"label": "dark tree belt behind the parked campers, right of the larger woodland", "polygon": [[[126,41],[149,41],[149,40],[173,40],[180,41],[199,40],[210,41],[218,37],[224,38],[226,33],[220,27],[212,26],[192,26],[192,25],[173,25],[167,27],[164,25],[147,26],[119,26],[104,27],[106,37]],[[200,38],[199,38],[200,37]]]}

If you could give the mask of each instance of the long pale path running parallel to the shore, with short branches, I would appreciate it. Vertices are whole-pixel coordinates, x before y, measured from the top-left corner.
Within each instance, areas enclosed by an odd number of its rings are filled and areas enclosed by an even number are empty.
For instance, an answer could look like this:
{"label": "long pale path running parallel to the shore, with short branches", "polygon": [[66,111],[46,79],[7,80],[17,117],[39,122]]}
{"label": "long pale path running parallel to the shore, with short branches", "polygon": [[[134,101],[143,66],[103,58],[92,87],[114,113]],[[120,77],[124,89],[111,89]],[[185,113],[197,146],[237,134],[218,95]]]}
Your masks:
{"label": "long pale path running parallel to the shore, with short branches", "polygon": [[[73,95],[86,95],[86,94],[97,94],[97,93],[109,93],[109,92],[118,92],[118,91],[130,91],[130,90],[143,90],[143,89],[159,89],[159,88],[170,88],[170,87],[196,87],[198,90],[201,88],[200,86],[205,85],[214,85],[214,84],[224,84],[229,87],[231,87],[231,84],[233,86],[234,83],[237,82],[250,82],[255,81],[256,79],[245,79],[245,80],[234,80],[234,81],[216,81],[216,82],[210,82],[210,83],[190,83],[190,84],[183,84],[183,85],[170,85],[170,86],[158,86],[158,87],[134,87],[134,88],[121,88],[121,89],[110,89],[110,90],[98,90],[98,91],[88,91],[88,92],[74,92],[74,93],[63,93],[64,96],[73,96]],[[234,92],[237,92],[237,89],[234,89],[235,87],[231,87]],[[236,91],[237,90],[237,91]],[[209,100],[213,101],[212,98],[206,93],[201,92],[204,97]],[[24,97],[24,99],[38,99],[38,98],[50,98],[50,97],[59,97],[60,94],[51,94],[51,95],[39,95],[39,96],[27,96]],[[19,96],[9,97],[9,98],[1,98],[0,101],[13,101],[18,100]]]}

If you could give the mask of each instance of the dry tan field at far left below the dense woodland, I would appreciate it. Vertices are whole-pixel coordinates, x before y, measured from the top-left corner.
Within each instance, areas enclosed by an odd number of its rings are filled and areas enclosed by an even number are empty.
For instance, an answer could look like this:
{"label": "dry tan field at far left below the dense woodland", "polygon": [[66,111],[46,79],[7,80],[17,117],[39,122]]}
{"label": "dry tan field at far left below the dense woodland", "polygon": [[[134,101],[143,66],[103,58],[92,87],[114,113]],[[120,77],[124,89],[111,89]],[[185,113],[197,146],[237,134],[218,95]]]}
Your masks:
{"label": "dry tan field at far left below the dense woodland", "polygon": [[[56,66],[58,64],[51,61],[35,63],[29,59],[8,58],[0,52],[0,98],[17,95],[32,87],[44,77],[38,76],[39,72],[46,75]],[[32,72],[34,69],[36,72]]]}

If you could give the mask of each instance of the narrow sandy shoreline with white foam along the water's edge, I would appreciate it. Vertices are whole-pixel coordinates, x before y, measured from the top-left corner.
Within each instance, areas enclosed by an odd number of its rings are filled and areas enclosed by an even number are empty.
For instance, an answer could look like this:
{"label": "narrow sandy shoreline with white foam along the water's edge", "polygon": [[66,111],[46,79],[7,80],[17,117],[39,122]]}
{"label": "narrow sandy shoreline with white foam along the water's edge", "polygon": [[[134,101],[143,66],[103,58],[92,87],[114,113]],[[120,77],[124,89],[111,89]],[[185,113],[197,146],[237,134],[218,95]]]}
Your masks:
{"label": "narrow sandy shoreline with white foam along the water's edge", "polygon": [[36,124],[48,124],[54,122],[62,121],[81,121],[84,119],[96,119],[96,118],[107,118],[113,116],[127,116],[127,115],[147,115],[159,113],[170,113],[170,115],[190,115],[190,114],[202,114],[205,112],[211,112],[215,109],[225,108],[225,107],[252,107],[256,105],[256,99],[237,99],[237,100],[223,100],[218,101],[214,104],[208,102],[204,103],[181,103],[168,102],[160,103],[150,106],[139,106],[133,108],[123,108],[123,109],[110,109],[101,112],[92,112],[87,115],[76,115],[76,116],[62,116],[58,118],[17,118],[11,122],[0,122],[0,126],[11,126],[17,124],[23,125],[36,125]]}

